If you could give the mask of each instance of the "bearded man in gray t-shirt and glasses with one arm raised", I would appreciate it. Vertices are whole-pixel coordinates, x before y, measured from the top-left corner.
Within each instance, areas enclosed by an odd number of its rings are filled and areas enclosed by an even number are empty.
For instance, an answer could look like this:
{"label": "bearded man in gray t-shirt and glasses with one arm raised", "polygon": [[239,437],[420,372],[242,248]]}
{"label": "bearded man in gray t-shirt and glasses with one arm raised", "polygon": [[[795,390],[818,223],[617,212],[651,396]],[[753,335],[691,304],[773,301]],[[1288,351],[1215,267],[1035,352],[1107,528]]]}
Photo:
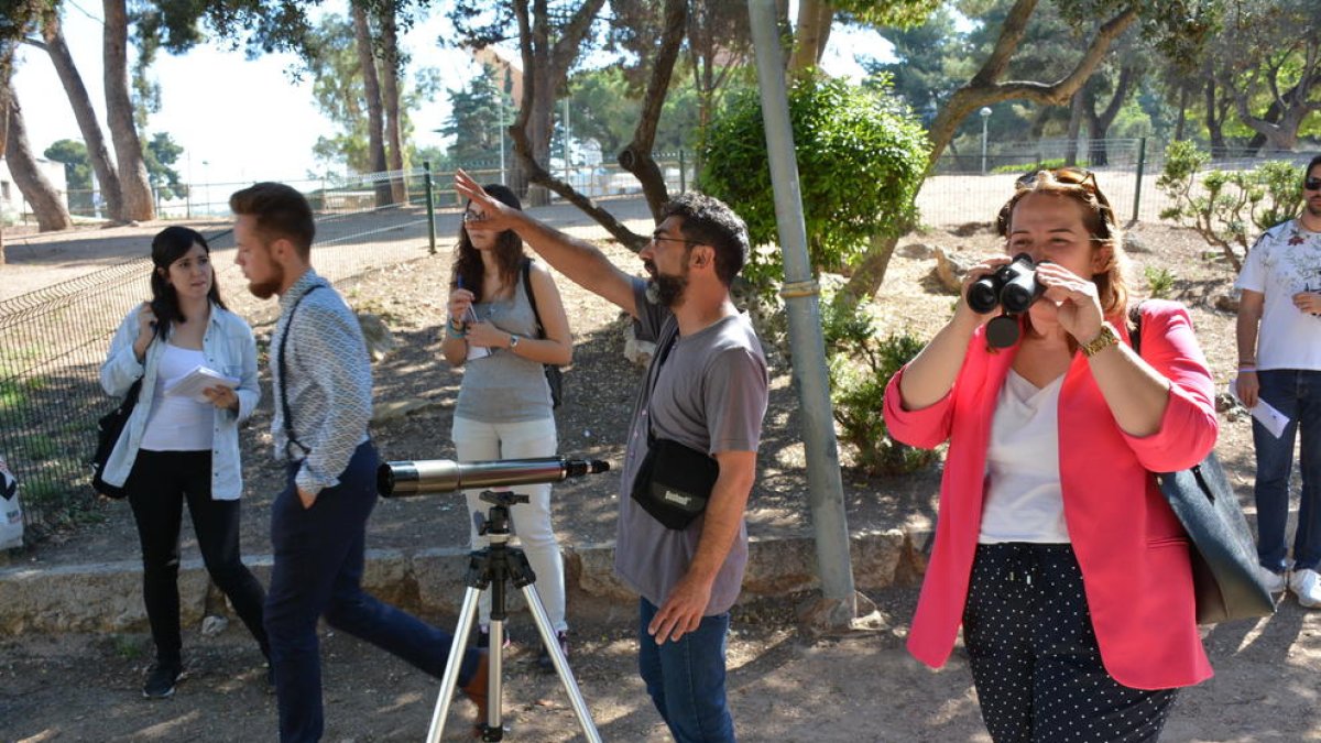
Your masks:
{"label": "bearded man in gray t-shirt and glasses with one arm raised", "polygon": [[[757,333],[729,296],[748,258],[742,219],[715,198],[675,198],[639,254],[651,275],[643,282],[491,198],[462,171],[454,184],[489,229],[518,233],[559,272],[629,312],[638,337],[657,341],[629,426],[614,568],[641,594],[638,665],[675,740],[733,740],[725,635],[748,563],[744,509],[769,387]],[[717,465],[705,510],[686,526],[666,526],[631,497],[653,440]]]}

